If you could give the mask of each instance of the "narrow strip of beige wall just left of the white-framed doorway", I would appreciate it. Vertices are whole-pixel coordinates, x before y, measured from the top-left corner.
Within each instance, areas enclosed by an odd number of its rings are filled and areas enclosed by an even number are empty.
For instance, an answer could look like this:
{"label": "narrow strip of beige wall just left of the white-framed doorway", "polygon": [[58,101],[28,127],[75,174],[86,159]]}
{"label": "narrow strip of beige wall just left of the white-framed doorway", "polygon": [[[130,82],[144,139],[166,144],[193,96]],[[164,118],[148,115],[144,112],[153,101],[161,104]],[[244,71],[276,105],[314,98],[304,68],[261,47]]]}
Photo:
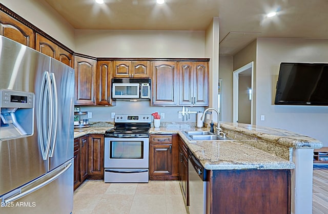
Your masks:
{"label": "narrow strip of beige wall just left of the white-framed doorway", "polygon": [[232,122],[232,56],[219,57],[219,79],[222,79],[221,121]]}

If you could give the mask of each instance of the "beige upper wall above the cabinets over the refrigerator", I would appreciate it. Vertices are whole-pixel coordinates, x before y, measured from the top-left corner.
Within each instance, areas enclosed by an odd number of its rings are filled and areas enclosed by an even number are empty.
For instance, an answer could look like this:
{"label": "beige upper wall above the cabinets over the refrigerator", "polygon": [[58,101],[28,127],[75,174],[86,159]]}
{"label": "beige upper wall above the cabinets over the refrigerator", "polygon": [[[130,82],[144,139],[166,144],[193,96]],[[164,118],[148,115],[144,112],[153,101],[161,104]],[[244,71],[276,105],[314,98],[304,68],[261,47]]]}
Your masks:
{"label": "beige upper wall above the cabinets over the refrigerator", "polygon": [[1,3],[73,51],[75,50],[74,29],[47,3],[37,0],[2,0]]}

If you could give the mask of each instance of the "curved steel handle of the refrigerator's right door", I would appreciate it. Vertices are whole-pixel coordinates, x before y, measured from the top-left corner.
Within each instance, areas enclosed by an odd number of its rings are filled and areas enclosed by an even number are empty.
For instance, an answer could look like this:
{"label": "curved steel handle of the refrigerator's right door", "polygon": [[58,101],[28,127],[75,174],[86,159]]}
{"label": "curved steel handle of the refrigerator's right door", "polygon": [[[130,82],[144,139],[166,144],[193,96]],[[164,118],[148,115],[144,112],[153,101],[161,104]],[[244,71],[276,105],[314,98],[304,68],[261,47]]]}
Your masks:
{"label": "curved steel handle of the refrigerator's right door", "polygon": [[53,90],[53,133],[52,133],[52,147],[50,149],[50,155],[49,157],[53,157],[54,151],[55,151],[55,146],[56,146],[56,137],[57,137],[57,116],[58,116],[58,94],[57,94],[57,84],[56,84],[56,78],[55,74],[51,73],[51,80],[52,80],[52,90]]}

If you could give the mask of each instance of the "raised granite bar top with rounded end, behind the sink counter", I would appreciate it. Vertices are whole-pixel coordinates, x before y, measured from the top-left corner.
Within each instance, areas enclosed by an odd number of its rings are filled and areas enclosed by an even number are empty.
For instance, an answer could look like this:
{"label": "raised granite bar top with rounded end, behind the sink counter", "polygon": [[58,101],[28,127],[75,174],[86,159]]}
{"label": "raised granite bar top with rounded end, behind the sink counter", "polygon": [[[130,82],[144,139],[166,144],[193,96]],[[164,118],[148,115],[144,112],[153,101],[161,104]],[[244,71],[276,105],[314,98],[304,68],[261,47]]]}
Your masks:
{"label": "raised granite bar top with rounded end, behind the sink counter", "polygon": [[296,149],[320,149],[323,146],[322,142],[317,139],[284,129],[227,122],[221,123],[220,127]]}

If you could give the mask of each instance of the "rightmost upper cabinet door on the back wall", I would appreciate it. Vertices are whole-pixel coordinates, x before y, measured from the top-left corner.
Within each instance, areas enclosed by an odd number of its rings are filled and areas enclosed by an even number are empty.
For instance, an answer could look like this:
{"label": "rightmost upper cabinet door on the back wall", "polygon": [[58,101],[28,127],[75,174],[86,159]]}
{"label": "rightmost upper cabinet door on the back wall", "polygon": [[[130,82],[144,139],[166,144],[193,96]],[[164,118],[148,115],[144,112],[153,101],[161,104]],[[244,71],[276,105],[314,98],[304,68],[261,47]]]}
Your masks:
{"label": "rightmost upper cabinet door on the back wall", "polygon": [[194,63],[194,106],[209,105],[209,71],[207,62]]}

